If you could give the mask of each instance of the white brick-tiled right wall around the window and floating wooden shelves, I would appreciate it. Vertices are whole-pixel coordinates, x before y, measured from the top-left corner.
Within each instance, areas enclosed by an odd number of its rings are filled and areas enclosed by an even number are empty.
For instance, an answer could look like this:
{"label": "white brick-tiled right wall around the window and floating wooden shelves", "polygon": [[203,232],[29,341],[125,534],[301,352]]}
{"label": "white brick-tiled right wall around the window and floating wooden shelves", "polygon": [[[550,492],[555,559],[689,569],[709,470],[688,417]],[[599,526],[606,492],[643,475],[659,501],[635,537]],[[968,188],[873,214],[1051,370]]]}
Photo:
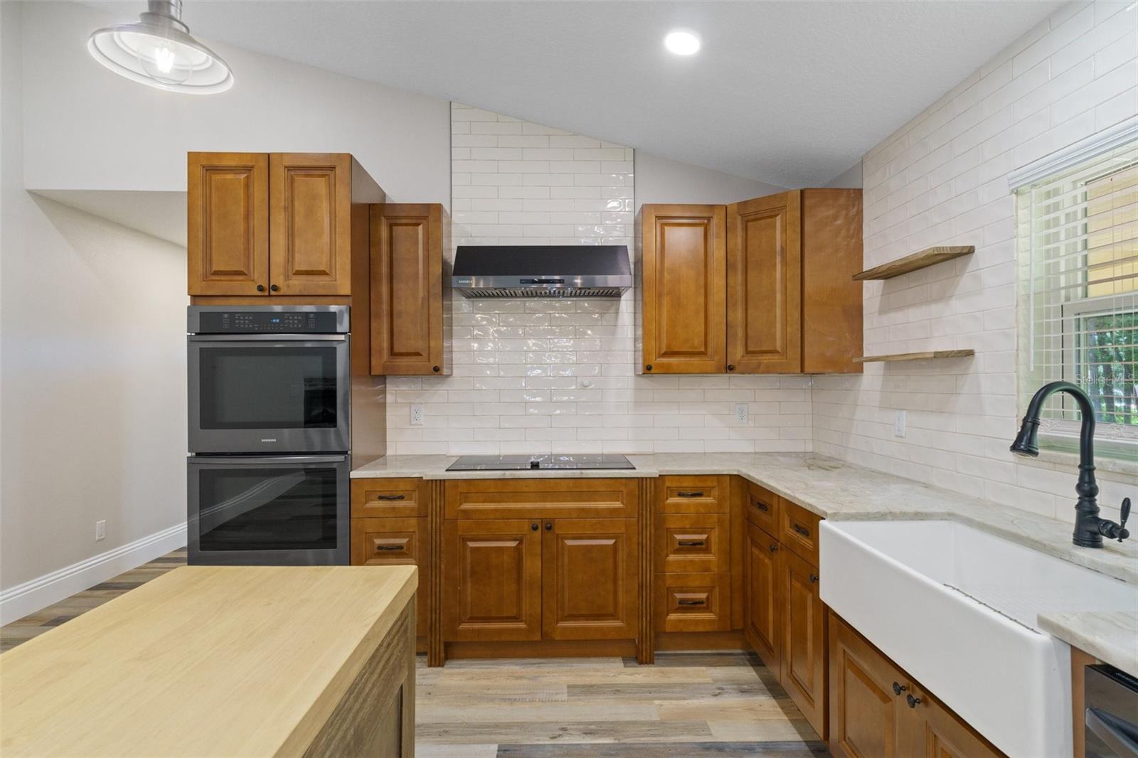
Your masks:
{"label": "white brick-tiled right wall around the window and floating wooden shelves", "polygon": [[[1070,518],[1073,462],[1028,462],[1007,450],[1017,429],[1007,175],[1136,113],[1138,10],[1072,3],[865,156],[867,266],[932,245],[976,247],[955,262],[866,282],[866,353],[971,347],[976,355],[816,378],[815,451]],[[892,434],[897,410],[908,411],[904,439]],[[1104,463],[1099,503],[1116,509],[1136,494],[1136,476]]]}

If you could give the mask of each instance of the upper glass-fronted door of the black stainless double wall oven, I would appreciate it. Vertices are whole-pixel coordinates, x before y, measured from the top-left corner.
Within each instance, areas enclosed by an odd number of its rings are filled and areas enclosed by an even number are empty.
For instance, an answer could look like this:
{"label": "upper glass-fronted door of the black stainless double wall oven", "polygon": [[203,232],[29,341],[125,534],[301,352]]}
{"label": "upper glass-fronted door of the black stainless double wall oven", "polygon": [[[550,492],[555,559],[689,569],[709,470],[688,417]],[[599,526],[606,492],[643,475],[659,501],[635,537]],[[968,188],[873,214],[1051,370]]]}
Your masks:
{"label": "upper glass-fronted door of the black stainless double wall oven", "polygon": [[346,452],[345,335],[189,338],[191,453]]}

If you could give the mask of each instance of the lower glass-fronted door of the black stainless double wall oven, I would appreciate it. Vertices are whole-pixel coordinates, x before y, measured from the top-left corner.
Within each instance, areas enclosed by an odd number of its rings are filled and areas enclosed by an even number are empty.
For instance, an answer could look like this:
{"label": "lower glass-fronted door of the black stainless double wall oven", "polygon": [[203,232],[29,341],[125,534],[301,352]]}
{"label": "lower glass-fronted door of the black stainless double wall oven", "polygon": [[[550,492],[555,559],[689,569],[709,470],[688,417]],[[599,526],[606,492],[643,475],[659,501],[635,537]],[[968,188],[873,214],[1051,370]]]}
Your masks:
{"label": "lower glass-fronted door of the black stainless double wall oven", "polygon": [[347,455],[189,459],[191,565],[346,565]]}

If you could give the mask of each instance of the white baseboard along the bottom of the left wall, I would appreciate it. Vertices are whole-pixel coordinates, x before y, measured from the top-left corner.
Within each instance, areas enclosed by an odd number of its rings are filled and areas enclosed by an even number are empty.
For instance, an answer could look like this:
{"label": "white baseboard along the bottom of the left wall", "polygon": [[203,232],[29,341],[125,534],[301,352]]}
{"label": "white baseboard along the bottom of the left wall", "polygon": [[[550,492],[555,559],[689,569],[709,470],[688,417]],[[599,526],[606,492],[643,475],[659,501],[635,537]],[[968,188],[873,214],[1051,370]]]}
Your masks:
{"label": "white baseboard along the bottom of the left wall", "polygon": [[185,524],[176,524],[168,529],[5,590],[0,592],[0,625],[24,618],[41,608],[47,608],[76,592],[93,587],[100,582],[106,582],[184,545]]}

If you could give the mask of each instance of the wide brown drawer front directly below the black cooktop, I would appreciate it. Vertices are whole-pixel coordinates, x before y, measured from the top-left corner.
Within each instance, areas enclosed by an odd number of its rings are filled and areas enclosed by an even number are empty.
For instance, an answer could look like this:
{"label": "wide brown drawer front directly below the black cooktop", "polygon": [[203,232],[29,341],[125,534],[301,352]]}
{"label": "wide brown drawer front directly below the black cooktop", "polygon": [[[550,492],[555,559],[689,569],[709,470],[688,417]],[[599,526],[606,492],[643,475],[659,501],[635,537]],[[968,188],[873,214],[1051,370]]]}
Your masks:
{"label": "wide brown drawer front directly below the black cooktop", "polygon": [[636,479],[452,479],[448,519],[636,518]]}

